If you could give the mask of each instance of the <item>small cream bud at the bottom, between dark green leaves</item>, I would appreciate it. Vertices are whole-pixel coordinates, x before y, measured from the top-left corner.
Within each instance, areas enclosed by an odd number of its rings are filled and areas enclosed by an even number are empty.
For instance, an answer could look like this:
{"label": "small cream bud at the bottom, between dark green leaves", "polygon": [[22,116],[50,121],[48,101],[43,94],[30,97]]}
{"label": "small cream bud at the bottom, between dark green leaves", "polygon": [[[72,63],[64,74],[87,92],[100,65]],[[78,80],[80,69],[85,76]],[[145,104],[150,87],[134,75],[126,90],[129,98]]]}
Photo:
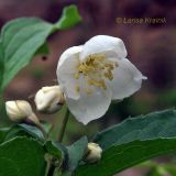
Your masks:
{"label": "small cream bud at the bottom, between dark green leaves", "polygon": [[96,163],[101,158],[102,148],[96,143],[88,143],[88,148],[84,161],[87,163]]}

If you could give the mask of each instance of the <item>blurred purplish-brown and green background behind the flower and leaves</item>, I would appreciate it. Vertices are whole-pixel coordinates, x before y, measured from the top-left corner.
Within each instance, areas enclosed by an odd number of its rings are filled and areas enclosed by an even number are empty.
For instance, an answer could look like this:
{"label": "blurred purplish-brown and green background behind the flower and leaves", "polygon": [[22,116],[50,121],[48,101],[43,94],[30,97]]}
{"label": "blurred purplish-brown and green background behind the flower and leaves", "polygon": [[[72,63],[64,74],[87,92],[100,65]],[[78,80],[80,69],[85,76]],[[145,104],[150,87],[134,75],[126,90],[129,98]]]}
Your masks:
{"label": "blurred purplish-brown and green background behind the flower and leaves", "polygon": [[[18,74],[6,91],[7,100],[28,100],[41,87],[57,84],[55,70],[59,55],[67,47],[84,44],[94,35],[106,34],[123,40],[128,58],[147,76],[147,80],[139,92],[119,103],[112,103],[103,118],[90,122],[86,128],[70,118],[65,143],[69,144],[82,134],[91,138],[98,130],[118,123],[129,116],[175,107],[176,1],[0,0],[0,28],[9,20],[20,16],[38,16],[56,22],[63,8],[68,4],[77,4],[82,22],[48,38],[50,55],[36,57]],[[130,19],[135,21],[128,22]],[[138,19],[143,19],[143,22],[136,22]],[[162,20],[154,22],[148,19]],[[47,118],[43,114],[38,117],[54,123],[57,121],[58,124],[62,121],[62,112]],[[164,158],[167,160],[170,157]],[[143,169],[130,169],[121,176],[138,176],[141,172]]]}

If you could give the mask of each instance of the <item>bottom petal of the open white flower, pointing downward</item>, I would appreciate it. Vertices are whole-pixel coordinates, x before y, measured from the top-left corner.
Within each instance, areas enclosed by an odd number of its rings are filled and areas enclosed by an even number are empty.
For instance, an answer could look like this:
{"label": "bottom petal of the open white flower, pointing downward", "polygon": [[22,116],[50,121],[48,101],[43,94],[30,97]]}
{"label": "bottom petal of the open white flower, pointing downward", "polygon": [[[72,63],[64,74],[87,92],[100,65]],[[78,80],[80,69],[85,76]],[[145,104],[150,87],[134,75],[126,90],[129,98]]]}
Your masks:
{"label": "bottom petal of the open white flower, pointing downward", "polygon": [[111,103],[111,90],[95,88],[92,94],[81,94],[78,100],[66,99],[67,106],[75,118],[87,124],[101,118]]}

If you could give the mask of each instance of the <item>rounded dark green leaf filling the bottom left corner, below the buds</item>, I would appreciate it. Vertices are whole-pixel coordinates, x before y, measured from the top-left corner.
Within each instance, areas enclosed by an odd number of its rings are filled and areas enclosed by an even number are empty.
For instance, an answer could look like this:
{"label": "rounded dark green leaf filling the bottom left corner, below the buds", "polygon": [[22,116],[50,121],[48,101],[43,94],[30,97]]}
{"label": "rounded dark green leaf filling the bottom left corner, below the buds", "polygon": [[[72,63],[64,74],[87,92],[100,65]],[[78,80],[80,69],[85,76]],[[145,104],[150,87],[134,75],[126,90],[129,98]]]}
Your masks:
{"label": "rounded dark green leaf filling the bottom left corner, below the buds", "polygon": [[43,176],[43,146],[33,139],[15,138],[0,145],[1,176]]}

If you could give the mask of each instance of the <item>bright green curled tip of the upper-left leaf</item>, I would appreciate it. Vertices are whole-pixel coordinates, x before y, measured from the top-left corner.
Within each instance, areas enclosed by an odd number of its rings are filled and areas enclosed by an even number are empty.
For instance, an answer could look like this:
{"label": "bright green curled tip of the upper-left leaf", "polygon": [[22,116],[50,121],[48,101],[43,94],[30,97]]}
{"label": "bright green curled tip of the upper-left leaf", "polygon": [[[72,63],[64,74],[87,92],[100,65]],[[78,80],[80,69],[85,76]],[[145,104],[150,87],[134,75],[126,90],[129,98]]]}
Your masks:
{"label": "bright green curled tip of the upper-left leaf", "polygon": [[64,9],[62,18],[55,24],[56,30],[65,30],[74,26],[81,21],[81,16],[78,13],[76,6],[69,6]]}

